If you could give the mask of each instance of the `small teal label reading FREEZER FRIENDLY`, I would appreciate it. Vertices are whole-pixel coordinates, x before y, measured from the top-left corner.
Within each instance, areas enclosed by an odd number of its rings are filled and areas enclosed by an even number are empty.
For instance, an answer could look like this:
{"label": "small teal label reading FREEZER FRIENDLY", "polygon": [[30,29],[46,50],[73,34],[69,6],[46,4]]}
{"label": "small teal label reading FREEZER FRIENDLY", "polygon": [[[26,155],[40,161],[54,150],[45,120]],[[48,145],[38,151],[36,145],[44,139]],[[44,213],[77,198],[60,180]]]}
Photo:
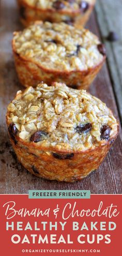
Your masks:
{"label": "small teal label reading FREEZER FRIENDLY", "polygon": [[29,190],[29,199],[90,199],[90,190]]}

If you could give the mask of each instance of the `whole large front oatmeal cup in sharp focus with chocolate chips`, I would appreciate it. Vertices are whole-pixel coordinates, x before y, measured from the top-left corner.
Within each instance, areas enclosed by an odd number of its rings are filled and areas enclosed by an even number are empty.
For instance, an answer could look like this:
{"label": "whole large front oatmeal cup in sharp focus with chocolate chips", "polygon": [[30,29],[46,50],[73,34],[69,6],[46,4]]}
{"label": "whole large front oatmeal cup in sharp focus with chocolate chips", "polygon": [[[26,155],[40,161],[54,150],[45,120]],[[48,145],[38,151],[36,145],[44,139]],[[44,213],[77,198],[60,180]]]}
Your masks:
{"label": "whole large front oatmeal cup in sharp focus with chocolate chips", "polygon": [[38,177],[65,182],[96,170],[118,133],[115,117],[101,100],[57,82],[19,91],[6,118],[24,167]]}

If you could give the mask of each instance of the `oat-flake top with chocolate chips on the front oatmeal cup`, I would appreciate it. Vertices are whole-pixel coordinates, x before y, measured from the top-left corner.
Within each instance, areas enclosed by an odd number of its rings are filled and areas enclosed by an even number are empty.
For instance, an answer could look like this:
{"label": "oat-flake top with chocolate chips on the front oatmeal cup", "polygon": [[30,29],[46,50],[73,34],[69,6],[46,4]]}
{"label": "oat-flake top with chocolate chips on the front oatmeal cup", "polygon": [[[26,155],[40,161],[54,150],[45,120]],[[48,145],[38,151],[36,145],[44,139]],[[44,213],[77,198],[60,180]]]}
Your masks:
{"label": "oat-flake top with chocolate chips on the front oatmeal cup", "polygon": [[[8,106],[10,131],[27,143],[57,150],[94,149],[111,141],[117,121],[101,100],[62,83],[19,91]],[[72,154],[53,155],[69,159]]]}

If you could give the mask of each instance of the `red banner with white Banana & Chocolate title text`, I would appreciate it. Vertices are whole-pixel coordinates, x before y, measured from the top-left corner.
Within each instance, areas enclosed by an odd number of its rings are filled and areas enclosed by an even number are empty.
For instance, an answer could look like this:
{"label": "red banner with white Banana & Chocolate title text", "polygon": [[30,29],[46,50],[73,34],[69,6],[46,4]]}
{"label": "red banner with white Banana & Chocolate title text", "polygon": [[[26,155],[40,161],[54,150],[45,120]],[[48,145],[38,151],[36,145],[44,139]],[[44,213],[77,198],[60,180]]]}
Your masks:
{"label": "red banner with white Banana & Chocolate title text", "polygon": [[121,195],[0,195],[1,255],[121,255]]}

